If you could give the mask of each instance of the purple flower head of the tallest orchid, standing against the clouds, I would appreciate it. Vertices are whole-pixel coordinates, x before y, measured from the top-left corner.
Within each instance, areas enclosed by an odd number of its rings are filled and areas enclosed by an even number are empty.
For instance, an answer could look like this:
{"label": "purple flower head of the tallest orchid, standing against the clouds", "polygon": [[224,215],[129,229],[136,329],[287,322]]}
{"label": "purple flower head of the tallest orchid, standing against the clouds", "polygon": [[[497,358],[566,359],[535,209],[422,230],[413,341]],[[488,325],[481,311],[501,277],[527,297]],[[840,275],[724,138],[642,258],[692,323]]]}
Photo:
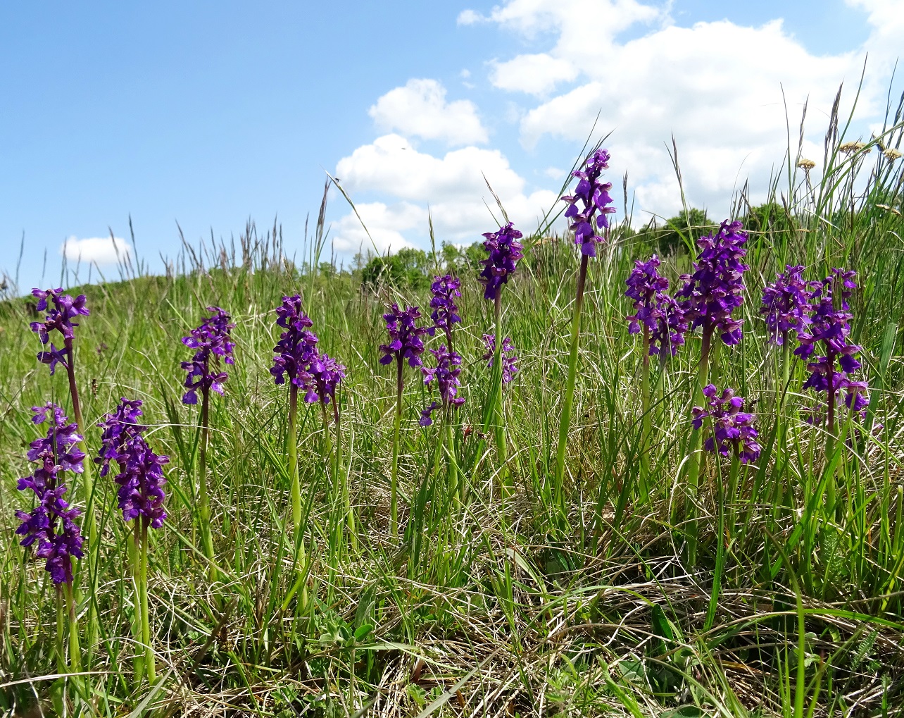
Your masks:
{"label": "purple flower head of the tallest orchid, standing against the clouds", "polygon": [[[615,207],[609,206],[612,204],[612,197],[609,196],[612,183],[599,181],[599,175],[608,167],[609,153],[599,148],[587,158],[583,168],[571,173],[572,177],[579,178],[574,194],[561,198],[563,202],[569,203],[565,216],[571,220],[569,229],[574,232],[574,243],[580,247],[581,254],[587,257],[597,256],[597,244],[605,241],[604,237],[597,234],[598,228],[608,230],[607,214],[616,211]],[[580,209],[579,200],[583,205]]]}

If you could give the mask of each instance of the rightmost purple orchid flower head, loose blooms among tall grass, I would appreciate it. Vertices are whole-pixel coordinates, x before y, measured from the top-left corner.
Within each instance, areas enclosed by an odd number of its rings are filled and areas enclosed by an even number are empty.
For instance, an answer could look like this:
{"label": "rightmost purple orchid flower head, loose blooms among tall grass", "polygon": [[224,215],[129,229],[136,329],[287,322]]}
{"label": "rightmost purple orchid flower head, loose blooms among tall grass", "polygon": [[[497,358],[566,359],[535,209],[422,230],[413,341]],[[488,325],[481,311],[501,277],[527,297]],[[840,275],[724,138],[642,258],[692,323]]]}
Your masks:
{"label": "rightmost purple orchid flower head, loose blooms among tall grass", "polygon": [[[848,299],[853,289],[857,288],[854,276],[853,271],[832,269],[832,274],[823,282],[815,282],[809,326],[805,331],[797,332],[799,345],[795,354],[810,360],[807,368],[811,373],[804,388],[825,392],[829,430],[833,429],[835,396],[838,392],[845,392],[845,403],[852,411],[862,411],[868,402],[865,398],[866,384],[852,382],[848,377],[848,374],[860,369],[861,364],[855,354],[862,351],[862,347],[847,341],[851,334],[852,317]],[[821,347],[824,354],[815,354],[817,347]],[[807,410],[808,420],[817,420],[821,408]]]}

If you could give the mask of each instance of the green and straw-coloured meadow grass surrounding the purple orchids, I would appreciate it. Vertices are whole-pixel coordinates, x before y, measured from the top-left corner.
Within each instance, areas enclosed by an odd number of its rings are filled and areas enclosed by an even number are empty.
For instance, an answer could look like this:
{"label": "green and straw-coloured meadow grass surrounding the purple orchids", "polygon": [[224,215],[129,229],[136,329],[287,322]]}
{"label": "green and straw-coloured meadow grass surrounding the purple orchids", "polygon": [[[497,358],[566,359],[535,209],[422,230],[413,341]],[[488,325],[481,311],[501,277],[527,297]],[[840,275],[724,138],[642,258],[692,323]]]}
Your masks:
{"label": "green and straw-coloured meadow grass surrounding the purple orchids", "polygon": [[[899,122],[900,118],[895,118]],[[892,127],[893,126],[893,127]],[[900,142],[890,122],[885,146]],[[722,347],[717,385],[754,402],[763,454],[724,496],[727,465],[705,459],[696,492],[696,565],[684,556],[683,468],[700,336],[650,384],[645,439],[638,340],[627,334],[624,280],[645,259],[645,234],[613,232],[592,261],[563,498],[554,496],[560,402],[568,375],[578,268],[567,240],[532,237],[504,290],[505,333],[520,371],[504,390],[507,460],[483,436],[492,376],[481,336],[494,309],[463,273],[457,351],[466,403],[454,427],[461,503],[447,487],[440,427],[418,426],[428,393],[406,367],[400,427],[401,535],[390,517],[395,373],[379,364],[381,313],[423,291],[363,291],[348,272],[328,279],[278,260],[281,244],[249,230],[231,248],[193,250],[166,277],[83,287],[91,316],[77,330],[77,373],[89,449],[94,424],[120,396],[145,402],[150,442],[170,456],[164,528],[151,532],[148,603],[158,683],[132,687],[133,597],[128,528],[115,486],[96,479],[98,576],[81,562],[82,669],[54,679],[56,607],[42,562],[19,548],[15,479],[31,469],[29,407],[69,407],[65,376],[34,354],[26,301],[0,305],[0,710],[4,714],[138,715],[899,715],[904,703],[904,219],[902,160],[851,156],[830,142],[827,178],[808,189],[792,151],[758,210],[749,240],[745,336]],[[852,171],[852,167],[854,171]],[[749,212],[743,194],[736,212]],[[685,216],[689,216],[685,213]],[[677,228],[691,243],[694,228]],[[689,268],[664,258],[670,279]],[[867,428],[824,456],[801,419],[812,402],[790,368],[787,391],[757,316],[759,293],[786,263],[818,279],[856,269],[852,338],[871,384]],[[310,262],[317,266],[316,261]],[[278,338],[273,308],[300,292],[321,346],[347,366],[341,444],[354,515],[323,456],[319,409],[298,415],[303,540],[294,562],[287,391],[268,373]],[[75,291],[73,290],[73,294]],[[237,326],[236,364],[213,396],[207,456],[216,571],[197,524],[198,411],[181,404],[189,351],[180,337],[204,307]],[[434,342],[441,341],[438,335]],[[783,399],[784,396],[784,399]],[[648,500],[638,489],[650,447]],[[723,482],[721,479],[725,477]],[[501,477],[511,483],[503,490]],[[829,477],[838,509],[825,510]],[[86,496],[71,482],[76,503]],[[565,506],[562,515],[561,506]],[[711,601],[717,546],[720,592]],[[303,578],[300,585],[299,571]],[[212,578],[216,579],[213,581]],[[305,600],[302,595],[305,594]],[[711,610],[711,602],[713,603]],[[90,645],[88,619],[99,632]],[[710,614],[708,616],[708,613]],[[90,663],[88,661],[90,660]],[[32,711],[32,713],[29,713]]]}

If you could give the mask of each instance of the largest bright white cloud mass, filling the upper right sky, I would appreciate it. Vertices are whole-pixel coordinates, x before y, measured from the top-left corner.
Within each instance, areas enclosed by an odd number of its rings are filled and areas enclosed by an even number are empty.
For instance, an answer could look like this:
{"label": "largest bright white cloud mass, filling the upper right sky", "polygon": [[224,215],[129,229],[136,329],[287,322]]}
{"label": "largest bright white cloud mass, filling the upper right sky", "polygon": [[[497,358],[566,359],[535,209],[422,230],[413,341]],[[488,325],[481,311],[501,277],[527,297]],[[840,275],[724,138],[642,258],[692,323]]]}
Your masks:
{"label": "largest bright white cloud mass, filling the upper right sky", "polygon": [[[904,0],[847,2],[868,13],[871,41],[823,56],[808,52],[781,20],[680,27],[668,4],[636,0],[509,0],[487,15],[462,14],[459,23],[497,24],[541,51],[490,63],[498,89],[541,96],[520,118],[523,146],[543,137],[583,141],[598,118],[598,131],[614,130],[607,141],[613,175],[627,170],[642,208],[668,213],[680,205],[664,147],[674,134],[689,200],[722,211],[746,178],[754,187],[767,184],[786,150],[786,108],[796,126],[808,102],[814,134],[807,147],[815,146],[843,80],[852,96],[864,50],[873,53],[872,72],[858,113],[879,109],[883,68],[904,31]],[[625,31],[631,34],[622,40]],[[549,96],[575,81],[577,87]]]}

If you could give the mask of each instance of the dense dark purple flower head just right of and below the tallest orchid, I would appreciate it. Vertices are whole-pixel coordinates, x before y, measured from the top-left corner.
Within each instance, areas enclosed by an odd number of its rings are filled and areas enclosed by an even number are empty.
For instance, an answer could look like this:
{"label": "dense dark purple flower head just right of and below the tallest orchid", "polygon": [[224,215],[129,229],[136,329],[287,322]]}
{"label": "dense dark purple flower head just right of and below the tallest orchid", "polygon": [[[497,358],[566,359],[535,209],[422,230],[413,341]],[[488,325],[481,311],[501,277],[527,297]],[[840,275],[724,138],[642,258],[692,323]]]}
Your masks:
{"label": "dense dark purple flower head just right of and below the tallest orchid", "polygon": [[701,251],[693,263],[694,271],[682,275],[684,286],[675,295],[691,330],[702,326],[708,339],[718,329],[726,345],[739,343],[744,321],[731,316],[744,301],[742,277],[749,269],[741,261],[747,255],[747,234],[741,227],[741,222],[725,221],[715,235],[697,241]]}

